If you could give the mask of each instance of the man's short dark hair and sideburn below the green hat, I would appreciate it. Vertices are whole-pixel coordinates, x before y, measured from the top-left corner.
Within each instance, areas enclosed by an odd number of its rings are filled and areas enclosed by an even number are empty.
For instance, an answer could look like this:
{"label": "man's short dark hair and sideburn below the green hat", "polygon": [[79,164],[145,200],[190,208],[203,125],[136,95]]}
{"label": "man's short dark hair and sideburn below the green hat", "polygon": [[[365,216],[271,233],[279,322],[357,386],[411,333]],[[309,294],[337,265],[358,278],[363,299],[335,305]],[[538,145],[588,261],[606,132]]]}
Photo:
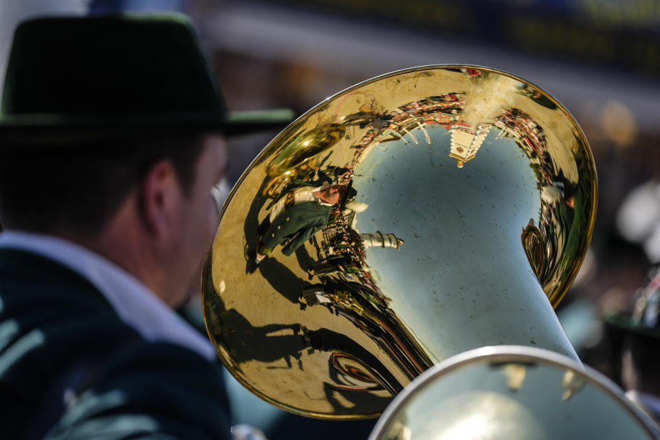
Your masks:
{"label": "man's short dark hair and sideburn below the green hat", "polygon": [[14,149],[0,159],[0,222],[8,229],[94,238],[161,159],[172,161],[188,195],[202,149],[202,136]]}

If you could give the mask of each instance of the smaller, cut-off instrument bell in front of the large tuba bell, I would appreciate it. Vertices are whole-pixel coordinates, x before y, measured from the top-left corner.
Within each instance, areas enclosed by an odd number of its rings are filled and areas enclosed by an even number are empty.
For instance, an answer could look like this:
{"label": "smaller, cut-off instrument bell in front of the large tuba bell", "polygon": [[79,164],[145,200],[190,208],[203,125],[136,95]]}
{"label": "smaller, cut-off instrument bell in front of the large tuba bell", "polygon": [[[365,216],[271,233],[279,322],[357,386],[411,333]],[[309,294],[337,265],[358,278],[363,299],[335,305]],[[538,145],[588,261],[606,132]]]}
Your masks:
{"label": "smaller, cut-off instrument bell in front of the large tuba bell", "polygon": [[417,377],[369,440],[657,439],[613,382],[531,347],[461,353]]}

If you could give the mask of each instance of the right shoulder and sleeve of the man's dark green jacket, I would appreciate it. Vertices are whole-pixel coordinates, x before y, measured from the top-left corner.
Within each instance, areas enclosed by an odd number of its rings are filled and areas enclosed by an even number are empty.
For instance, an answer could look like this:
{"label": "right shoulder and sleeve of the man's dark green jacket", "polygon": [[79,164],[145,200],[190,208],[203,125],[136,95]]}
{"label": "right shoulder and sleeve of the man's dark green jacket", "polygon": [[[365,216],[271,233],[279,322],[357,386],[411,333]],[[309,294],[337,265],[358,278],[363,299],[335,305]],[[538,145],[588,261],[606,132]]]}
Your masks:
{"label": "right shoulder and sleeve of the man's dark green jacket", "polygon": [[168,343],[126,347],[45,437],[228,439],[230,410],[219,368]]}

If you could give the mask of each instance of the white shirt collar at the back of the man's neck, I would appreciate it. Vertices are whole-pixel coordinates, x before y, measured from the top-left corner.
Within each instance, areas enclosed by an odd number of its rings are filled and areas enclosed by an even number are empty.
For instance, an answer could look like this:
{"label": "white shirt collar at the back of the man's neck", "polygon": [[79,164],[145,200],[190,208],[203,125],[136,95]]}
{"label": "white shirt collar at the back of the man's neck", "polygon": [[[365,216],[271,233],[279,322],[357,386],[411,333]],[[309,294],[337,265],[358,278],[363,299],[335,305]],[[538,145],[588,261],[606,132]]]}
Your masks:
{"label": "white shirt collar at the back of the man's neck", "polygon": [[104,257],[54,236],[13,230],[0,233],[0,248],[25,250],[61,263],[87,278],[119,317],[148,341],[171,342],[212,361],[212,344],[133,275]]}

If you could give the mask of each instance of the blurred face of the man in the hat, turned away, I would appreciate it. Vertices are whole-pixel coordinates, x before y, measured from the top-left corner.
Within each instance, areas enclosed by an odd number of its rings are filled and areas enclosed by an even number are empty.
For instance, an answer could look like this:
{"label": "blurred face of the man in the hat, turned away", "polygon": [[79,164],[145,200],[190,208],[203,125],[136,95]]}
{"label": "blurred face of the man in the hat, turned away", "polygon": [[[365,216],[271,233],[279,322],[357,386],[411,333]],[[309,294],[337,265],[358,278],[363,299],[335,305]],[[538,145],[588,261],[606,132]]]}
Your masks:
{"label": "blurred face of the man in the hat, turned away", "polygon": [[208,251],[215,234],[217,201],[211,193],[223,177],[227,163],[227,148],[224,137],[209,135],[195,165],[195,183],[192,190],[181,198],[178,210],[179,234],[173,243],[173,278],[177,278],[180,294],[175,294],[168,303],[181,305],[190,296],[190,287],[199,290],[203,257]]}

